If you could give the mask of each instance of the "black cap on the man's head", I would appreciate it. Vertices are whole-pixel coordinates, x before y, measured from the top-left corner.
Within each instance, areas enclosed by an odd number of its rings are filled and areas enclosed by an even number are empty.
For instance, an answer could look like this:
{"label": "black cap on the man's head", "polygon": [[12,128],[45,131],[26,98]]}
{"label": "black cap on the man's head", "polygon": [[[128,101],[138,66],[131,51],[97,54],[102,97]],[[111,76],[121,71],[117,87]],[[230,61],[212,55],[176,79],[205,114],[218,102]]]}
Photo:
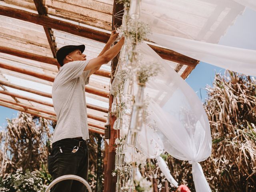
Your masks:
{"label": "black cap on the man's head", "polygon": [[60,48],[56,53],[56,58],[60,66],[63,66],[64,58],[74,50],[79,49],[81,52],[84,52],[85,46],[84,45],[67,45]]}

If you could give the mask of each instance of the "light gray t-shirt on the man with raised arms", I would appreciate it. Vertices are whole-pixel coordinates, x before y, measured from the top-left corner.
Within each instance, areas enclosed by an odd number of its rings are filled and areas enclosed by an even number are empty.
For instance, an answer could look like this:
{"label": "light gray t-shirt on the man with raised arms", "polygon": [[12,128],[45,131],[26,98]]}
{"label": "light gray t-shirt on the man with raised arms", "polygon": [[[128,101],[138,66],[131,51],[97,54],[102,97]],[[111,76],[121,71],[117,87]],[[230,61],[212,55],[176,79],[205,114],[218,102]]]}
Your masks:
{"label": "light gray t-shirt on the man with raised arms", "polygon": [[57,125],[52,142],[65,138],[89,139],[84,86],[90,71],[84,71],[89,61],[72,61],[60,67],[53,86],[52,101]]}

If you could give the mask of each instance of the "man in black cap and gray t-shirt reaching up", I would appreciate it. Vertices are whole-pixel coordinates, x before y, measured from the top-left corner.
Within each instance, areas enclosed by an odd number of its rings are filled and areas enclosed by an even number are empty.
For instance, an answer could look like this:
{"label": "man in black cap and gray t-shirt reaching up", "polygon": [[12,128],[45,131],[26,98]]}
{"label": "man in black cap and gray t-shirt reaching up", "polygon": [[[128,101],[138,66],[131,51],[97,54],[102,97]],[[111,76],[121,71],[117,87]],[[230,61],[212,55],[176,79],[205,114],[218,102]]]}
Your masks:
{"label": "man in black cap and gray t-shirt reaching up", "polygon": [[[52,86],[52,100],[57,116],[52,152],[48,156],[48,171],[52,179],[74,174],[87,180],[89,139],[84,86],[91,74],[108,63],[120,51],[124,38],[112,48],[118,36],[112,31],[110,39],[97,58],[86,60],[85,46],[64,46],[56,54],[60,71]],[[52,192],[85,192],[86,187],[75,180],[57,183]]]}

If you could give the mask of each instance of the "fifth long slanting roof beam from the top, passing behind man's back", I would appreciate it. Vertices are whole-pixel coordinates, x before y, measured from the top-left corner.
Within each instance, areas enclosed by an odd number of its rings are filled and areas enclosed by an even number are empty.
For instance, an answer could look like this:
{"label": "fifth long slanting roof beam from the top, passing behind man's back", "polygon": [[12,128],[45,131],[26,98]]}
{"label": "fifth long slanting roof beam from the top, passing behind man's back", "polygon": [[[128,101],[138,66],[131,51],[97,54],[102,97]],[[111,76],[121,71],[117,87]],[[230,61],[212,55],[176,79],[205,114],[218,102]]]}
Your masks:
{"label": "fifth long slanting roof beam from the top, passing behind man's back", "polygon": [[[6,94],[6,95],[9,95],[9,96],[13,96],[13,97],[17,97],[17,98],[20,98],[20,99],[24,99],[24,100],[36,102],[36,103],[39,103],[39,104],[42,104],[42,105],[53,107],[53,104],[51,104],[49,102],[38,100],[38,99],[35,99],[35,98],[32,98],[32,97],[22,96],[20,94],[16,94],[16,93],[12,93],[12,92],[9,92],[9,91],[4,91],[4,90],[0,90],[0,93]],[[48,111],[48,112],[50,113],[50,111]],[[45,113],[48,114],[47,112],[45,112]],[[52,115],[56,115],[55,112],[51,112],[51,113],[52,113]],[[91,119],[94,119],[94,120],[101,121],[101,122],[106,122],[106,118],[102,118],[100,116],[96,116],[96,115],[93,115],[93,114],[87,114],[87,117],[91,118]]]}

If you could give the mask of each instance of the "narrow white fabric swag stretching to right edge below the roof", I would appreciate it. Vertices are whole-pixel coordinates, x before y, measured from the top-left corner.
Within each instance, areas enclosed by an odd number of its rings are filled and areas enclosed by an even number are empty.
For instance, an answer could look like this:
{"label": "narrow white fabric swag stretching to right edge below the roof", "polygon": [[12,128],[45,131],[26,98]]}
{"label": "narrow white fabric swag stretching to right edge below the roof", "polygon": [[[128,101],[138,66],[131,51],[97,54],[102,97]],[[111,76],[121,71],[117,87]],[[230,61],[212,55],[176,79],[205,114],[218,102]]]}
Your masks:
{"label": "narrow white fabric swag stretching to right edge below the roof", "polygon": [[152,34],[151,40],[183,55],[215,66],[256,76],[256,50],[200,42],[163,34]]}

